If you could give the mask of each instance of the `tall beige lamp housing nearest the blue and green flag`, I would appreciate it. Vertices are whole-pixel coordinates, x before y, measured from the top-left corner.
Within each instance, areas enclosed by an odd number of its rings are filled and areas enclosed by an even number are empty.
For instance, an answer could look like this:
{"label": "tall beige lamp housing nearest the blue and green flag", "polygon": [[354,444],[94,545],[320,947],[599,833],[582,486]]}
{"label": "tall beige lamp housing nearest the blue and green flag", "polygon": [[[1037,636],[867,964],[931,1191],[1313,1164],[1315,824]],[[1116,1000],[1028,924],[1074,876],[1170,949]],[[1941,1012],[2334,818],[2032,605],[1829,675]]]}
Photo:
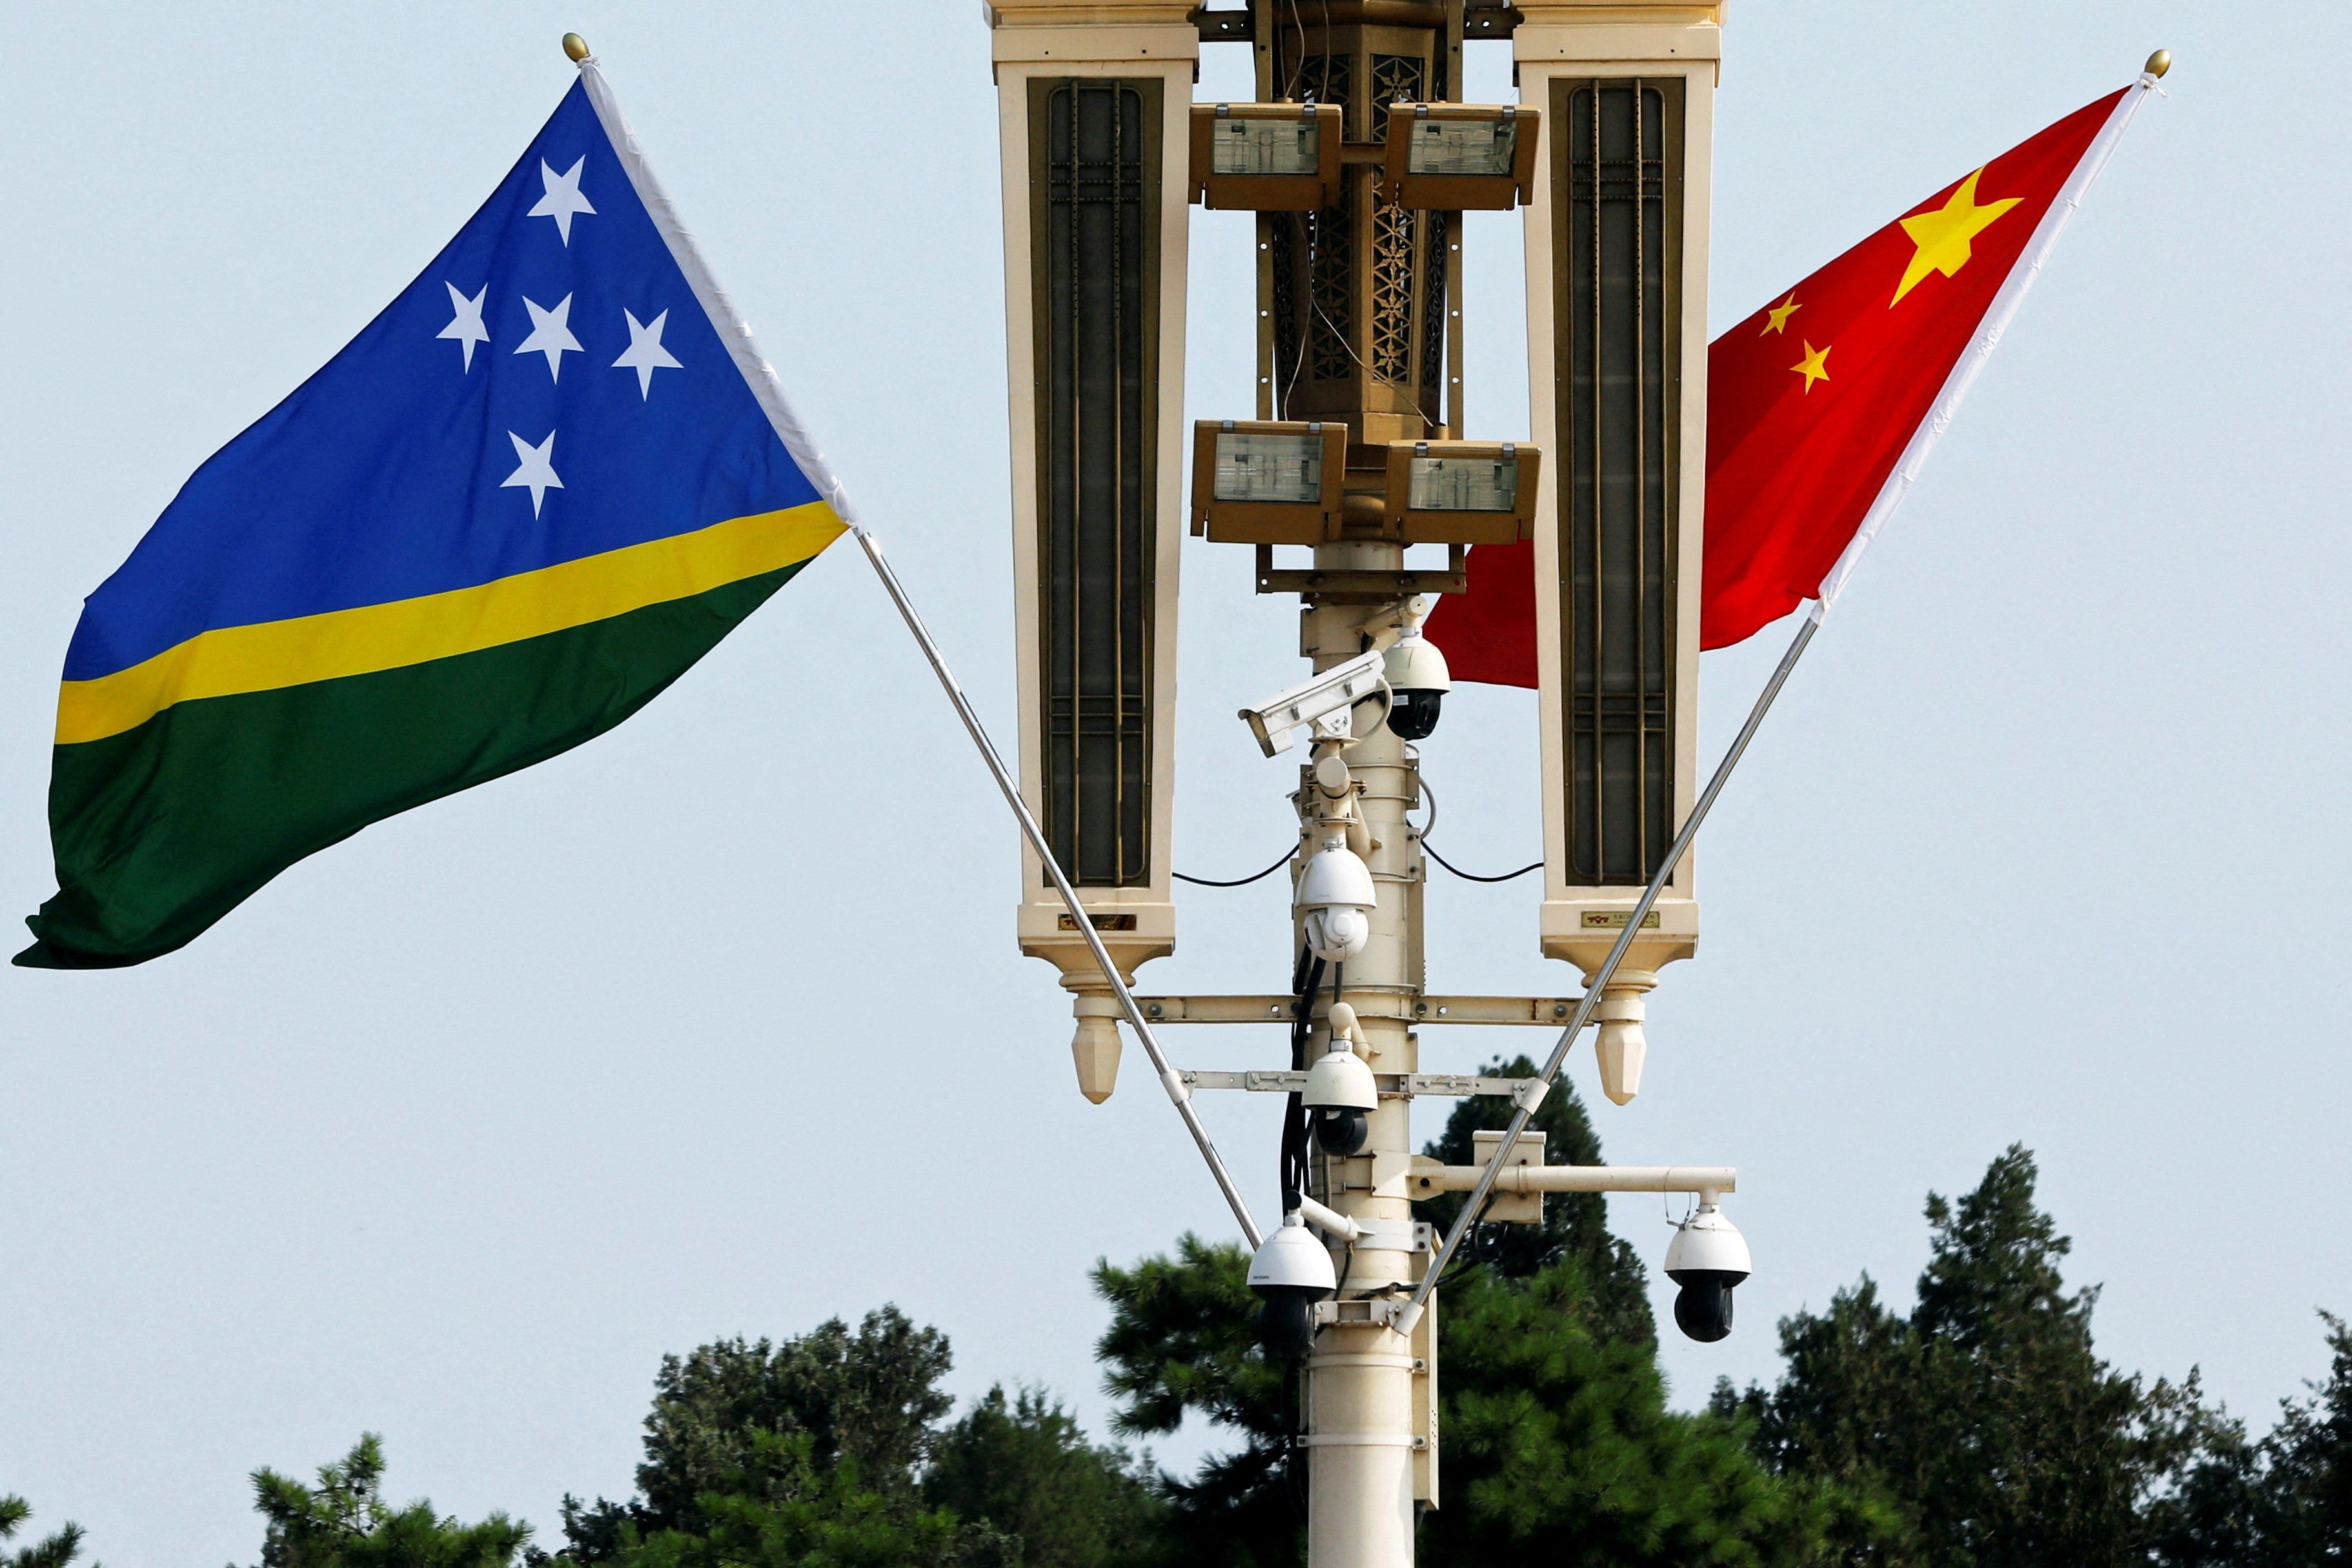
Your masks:
{"label": "tall beige lamp housing nearest the blue and green flag", "polygon": [[[1131,973],[1176,947],[1176,550],[1200,28],[1167,0],[997,0],[1021,795]],[[1117,1006],[1021,853],[1021,952],[1077,994],[1080,1088],[1110,1095]]]}

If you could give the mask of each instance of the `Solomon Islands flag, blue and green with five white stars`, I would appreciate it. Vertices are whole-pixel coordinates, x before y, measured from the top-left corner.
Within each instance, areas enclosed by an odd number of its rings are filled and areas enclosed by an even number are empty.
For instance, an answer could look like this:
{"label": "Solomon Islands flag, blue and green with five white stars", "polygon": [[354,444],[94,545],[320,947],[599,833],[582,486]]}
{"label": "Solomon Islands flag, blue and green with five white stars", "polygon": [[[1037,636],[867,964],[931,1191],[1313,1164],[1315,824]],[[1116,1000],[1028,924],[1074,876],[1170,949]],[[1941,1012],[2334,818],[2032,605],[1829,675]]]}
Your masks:
{"label": "Solomon Islands flag, blue and green with five white stars", "polygon": [[847,503],[593,63],[496,195],[82,609],[16,964],[172,952],[677,679]]}

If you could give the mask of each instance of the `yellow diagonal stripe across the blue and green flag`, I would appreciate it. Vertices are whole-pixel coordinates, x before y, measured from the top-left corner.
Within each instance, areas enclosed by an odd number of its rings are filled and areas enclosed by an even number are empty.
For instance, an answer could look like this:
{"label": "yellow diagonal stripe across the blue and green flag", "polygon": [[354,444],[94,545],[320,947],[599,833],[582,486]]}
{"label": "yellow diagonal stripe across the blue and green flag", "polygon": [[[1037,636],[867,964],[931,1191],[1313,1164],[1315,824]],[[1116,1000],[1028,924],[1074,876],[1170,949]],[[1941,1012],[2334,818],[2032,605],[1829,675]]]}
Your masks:
{"label": "yellow diagonal stripe across the blue and green flag", "polygon": [[842,536],[823,501],[517,571],[477,588],[200,632],[129,670],[64,682],[56,743],[103,741],[172,703],[397,670],[687,599],[818,555]]}

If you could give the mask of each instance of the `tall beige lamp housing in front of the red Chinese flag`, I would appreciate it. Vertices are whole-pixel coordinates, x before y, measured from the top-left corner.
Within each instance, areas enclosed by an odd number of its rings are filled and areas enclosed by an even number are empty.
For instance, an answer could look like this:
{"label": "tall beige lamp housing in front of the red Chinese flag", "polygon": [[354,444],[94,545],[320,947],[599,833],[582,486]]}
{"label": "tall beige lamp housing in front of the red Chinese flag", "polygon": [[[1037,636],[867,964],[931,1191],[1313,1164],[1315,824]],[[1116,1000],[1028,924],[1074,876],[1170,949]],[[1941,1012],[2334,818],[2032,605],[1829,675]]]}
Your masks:
{"label": "tall beige lamp housing in front of the red Chinese flag", "polygon": [[[1708,461],[1708,202],[1722,5],[1526,0],[1519,99],[1543,115],[1526,214],[1543,726],[1541,940],[1588,978],[1691,811]],[[1684,858],[1604,1009],[1602,1088],[1632,1098],[1642,994],[1698,945]]]}

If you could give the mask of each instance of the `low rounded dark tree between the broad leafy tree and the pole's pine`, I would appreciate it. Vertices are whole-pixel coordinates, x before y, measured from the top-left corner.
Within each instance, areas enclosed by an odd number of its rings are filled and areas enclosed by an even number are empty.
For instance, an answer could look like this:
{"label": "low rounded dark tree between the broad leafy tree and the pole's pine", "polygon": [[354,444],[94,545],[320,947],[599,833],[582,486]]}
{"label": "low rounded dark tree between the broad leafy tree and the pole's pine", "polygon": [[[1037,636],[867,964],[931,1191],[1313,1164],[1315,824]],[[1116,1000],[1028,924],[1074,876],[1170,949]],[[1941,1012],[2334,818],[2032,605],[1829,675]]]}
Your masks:
{"label": "low rounded dark tree between the broad leafy tree and the pole's pine", "polygon": [[1025,1568],[1110,1568],[1150,1549],[1164,1509],[1148,1476],[1047,1394],[993,1387],[938,1434],[922,1495],[1018,1540]]}

